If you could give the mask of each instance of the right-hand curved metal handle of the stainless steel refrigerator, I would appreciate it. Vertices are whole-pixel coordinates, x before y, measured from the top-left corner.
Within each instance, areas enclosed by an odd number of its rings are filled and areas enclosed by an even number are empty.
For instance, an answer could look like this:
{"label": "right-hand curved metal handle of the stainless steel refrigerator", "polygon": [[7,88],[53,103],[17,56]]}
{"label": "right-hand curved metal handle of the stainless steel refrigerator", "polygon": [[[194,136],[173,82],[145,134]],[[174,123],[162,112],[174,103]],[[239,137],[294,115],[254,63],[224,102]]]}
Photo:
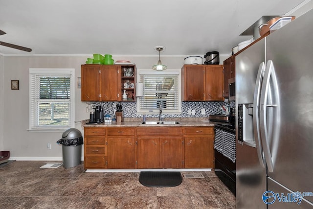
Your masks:
{"label": "right-hand curved metal handle of the stainless steel refrigerator", "polygon": [[[272,79],[273,81],[273,85],[269,85],[270,79]],[[274,71],[274,65],[273,65],[273,61],[268,60],[267,62],[267,67],[265,70],[265,74],[264,74],[264,79],[263,79],[263,84],[262,84],[262,90],[261,90],[261,98],[260,98],[260,129],[261,129],[261,140],[262,140],[262,145],[263,145],[263,151],[264,151],[264,156],[265,156],[265,160],[266,163],[268,165],[268,171],[269,172],[273,172],[274,170],[274,166],[273,166],[273,158],[272,158],[272,154],[270,153],[270,148],[269,148],[269,136],[268,136],[268,121],[272,120],[273,117],[272,115],[270,116],[270,114],[268,114],[267,109],[268,108],[277,108],[277,112],[278,108],[279,108],[279,104],[278,104],[278,99],[276,99],[275,102],[277,102],[277,104],[268,104],[268,93],[270,91],[270,89],[272,89],[273,91],[271,91],[271,93],[275,93],[276,95],[271,95],[270,98],[274,98],[274,97],[278,97],[278,87],[277,87],[277,80],[276,80],[276,76],[275,76],[275,71]],[[267,118],[268,116],[268,118]],[[279,116],[277,116],[279,117]],[[279,123],[275,124],[275,125],[279,125]],[[275,127],[276,129],[278,129],[278,127]],[[273,134],[273,133],[272,133]],[[275,140],[276,136],[275,134],[273,134],[273,136],[271,136],[271,140]]]}

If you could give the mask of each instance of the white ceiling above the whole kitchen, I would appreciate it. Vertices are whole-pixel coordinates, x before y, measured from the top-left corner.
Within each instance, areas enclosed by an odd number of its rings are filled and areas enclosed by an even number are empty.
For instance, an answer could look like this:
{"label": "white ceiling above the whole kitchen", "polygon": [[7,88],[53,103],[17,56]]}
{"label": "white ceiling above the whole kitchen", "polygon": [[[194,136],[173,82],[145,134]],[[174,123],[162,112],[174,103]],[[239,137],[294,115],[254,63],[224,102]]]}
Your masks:
{"label": "white ceiling above the whole kitchen", "polygon": [[229,54],[264,15],[304,0],[0,0],[0,54]]}

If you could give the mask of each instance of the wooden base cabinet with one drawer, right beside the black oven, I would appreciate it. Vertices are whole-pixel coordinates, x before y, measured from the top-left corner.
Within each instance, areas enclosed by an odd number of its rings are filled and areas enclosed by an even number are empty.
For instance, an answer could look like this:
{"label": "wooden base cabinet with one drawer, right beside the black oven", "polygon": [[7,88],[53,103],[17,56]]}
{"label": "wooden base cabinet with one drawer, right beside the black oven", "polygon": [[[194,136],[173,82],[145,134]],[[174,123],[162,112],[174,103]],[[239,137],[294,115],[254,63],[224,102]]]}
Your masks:
{"label": "wooden base cabinet with one drawer, right beside the black oven", "polygon": [[185,128],[185,168],[214,168],[214,128]]}

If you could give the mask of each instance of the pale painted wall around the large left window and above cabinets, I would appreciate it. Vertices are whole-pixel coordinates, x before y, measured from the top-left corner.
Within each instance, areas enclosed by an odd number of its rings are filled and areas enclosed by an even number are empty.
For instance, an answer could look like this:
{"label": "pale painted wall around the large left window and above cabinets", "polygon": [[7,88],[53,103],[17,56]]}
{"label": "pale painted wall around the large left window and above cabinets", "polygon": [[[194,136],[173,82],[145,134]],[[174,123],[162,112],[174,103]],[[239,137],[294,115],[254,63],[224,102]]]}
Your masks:
{"label": "pale painted wall around the large left window and above cabinets", "polygon": [[[62,146],[56,144],[63,132],[29,132],[29,68],[74,68],[75,77],[81,76],[81,65],[90,56],[0,56],[0,150],[9,150],[10,159],[16,160],[62,160]],[[185,57],[162,57],[162,63],[169,69],[180,69]],[[220,56],[223,64],[227,56]],[[158,57],[116,57],[114,60],[129,60],[138,69],[149,69],[156,64]],[[20,90],[11,90],[11,80],[20,80]],[[89,118],[86,103],[81,102],[80,89],[75,88],[75,120]],[[3,99],[2,99],[3,98]],[[3,107],[3,108],[2,108]],[[82,134],[81,123],[75,128]],[[3,134],[2,134],[3,133]],[[51,143],[51,150],[46,148]]]}

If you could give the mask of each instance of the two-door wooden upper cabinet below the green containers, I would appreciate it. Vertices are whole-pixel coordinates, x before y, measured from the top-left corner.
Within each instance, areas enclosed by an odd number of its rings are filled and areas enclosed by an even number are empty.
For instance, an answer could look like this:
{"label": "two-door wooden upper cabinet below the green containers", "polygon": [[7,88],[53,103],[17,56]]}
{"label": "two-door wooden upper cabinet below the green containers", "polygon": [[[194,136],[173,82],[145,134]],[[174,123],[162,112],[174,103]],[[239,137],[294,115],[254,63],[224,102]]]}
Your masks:
{"label": "two-door wooden upper cabinet below the green containers", "polygon": [[82,101],[120,101],[121,66],[82,65]]}

